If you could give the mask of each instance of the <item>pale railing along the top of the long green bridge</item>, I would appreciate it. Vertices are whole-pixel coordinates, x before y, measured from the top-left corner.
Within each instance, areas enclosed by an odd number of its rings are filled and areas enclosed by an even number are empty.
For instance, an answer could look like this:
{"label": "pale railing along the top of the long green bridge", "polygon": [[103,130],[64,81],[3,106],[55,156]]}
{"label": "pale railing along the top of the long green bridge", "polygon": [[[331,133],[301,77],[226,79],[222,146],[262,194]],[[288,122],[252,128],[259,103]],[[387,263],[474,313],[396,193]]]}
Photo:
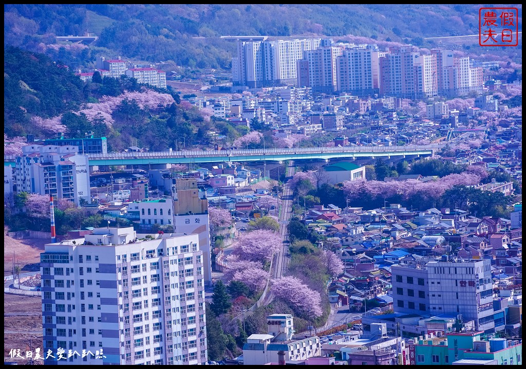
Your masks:
{"label": "pale railing along the top of the long green bridge", "polygon": [[[246,156],[246,155],[287,155],[287,154],[325,154],[325,153],[364,153],[364,152],[419,152],[435,151],[442,147],[439,144],[418,146],[342,146],[342,147],[296,147],[286,149],[232,149],[232,150],[181,150],[154,152],[122,152],[107,154],[88,154],[89,159],[141,159],[161,157],[203,157],[203,156]],[[7,157],[7,155],[5,155]]]}

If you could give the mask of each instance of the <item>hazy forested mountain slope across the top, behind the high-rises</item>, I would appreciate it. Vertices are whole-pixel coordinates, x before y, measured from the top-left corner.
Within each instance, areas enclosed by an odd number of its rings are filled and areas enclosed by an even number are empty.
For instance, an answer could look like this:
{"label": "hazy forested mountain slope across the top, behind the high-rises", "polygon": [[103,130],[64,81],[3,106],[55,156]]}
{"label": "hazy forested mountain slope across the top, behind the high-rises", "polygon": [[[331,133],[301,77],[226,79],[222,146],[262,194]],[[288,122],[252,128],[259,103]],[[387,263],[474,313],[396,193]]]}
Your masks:
{"label": "hazy forested mountain slope across the top, behind the high-rises", "polygon": [[[378,4],[6,4],[4,45],[46,52],[70,67],[96,55],[184,67],[228,69],[235,44],[225,35],[325,35],[411,40],[476,34],[480,5]],[[520,9],[519,16],[522,9]],[[426,19],[422,22],[421,19]],[[92,33],[89,48],[55,36]]]}

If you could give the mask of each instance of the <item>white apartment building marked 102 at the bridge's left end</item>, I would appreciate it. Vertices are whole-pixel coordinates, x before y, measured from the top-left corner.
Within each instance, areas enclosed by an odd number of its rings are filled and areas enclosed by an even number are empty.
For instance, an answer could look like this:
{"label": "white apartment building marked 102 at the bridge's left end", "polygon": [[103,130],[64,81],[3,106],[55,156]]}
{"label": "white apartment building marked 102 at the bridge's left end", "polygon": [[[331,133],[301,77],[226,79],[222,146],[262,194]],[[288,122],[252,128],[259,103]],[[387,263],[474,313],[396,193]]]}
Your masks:
{"label": "white apartment building marked 102 at the bridge's left end", "polygon": [[15,158],[17,192],[53,195],[80,204],[91,201],[87,155],[78,146],[31,144]]}

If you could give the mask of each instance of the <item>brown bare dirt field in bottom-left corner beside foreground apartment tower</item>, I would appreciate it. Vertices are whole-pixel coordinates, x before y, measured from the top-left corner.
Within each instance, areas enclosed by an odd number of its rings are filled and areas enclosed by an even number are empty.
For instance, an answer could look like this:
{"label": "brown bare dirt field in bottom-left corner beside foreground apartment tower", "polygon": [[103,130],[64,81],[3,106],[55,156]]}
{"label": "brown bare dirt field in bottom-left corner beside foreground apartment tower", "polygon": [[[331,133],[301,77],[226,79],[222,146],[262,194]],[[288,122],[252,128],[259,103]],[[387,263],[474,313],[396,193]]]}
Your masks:
{"label": "brown bare dirt field in bottom-left corner beside foreground apartment tower", "polygon": [[[36,313],[32,316],[4,317],[4,361],[14,361],[25,364],[25,352],[29,350],[29,341],[32,343],[33,354],[36,347],[43,350],[42,343],[42,301],[39,296],[20,296],[4,293],[5,313]],[[6,333],[16,331],[18,333]],[[21,333],[34,332],[39,333]],[[20,349],[24,359],[11,358],[9,352]]]}

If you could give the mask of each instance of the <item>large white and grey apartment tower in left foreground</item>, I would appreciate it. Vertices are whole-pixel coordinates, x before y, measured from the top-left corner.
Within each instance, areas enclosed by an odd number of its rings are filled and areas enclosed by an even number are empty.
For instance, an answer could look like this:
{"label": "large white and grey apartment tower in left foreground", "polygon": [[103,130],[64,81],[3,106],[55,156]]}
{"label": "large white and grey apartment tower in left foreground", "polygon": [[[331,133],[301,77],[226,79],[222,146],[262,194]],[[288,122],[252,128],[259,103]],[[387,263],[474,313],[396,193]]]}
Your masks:
{"label": "large white and grey apartment tower in left foreground", "polygon": [[[197,244],[197,235],[139,240],[133,227],[95,228],[67,244],[47,244],[41,254],[44,352],[60,347],[73,355],[44,364],[204,364]],[[82,357],[83,350],[93,355]]]}

